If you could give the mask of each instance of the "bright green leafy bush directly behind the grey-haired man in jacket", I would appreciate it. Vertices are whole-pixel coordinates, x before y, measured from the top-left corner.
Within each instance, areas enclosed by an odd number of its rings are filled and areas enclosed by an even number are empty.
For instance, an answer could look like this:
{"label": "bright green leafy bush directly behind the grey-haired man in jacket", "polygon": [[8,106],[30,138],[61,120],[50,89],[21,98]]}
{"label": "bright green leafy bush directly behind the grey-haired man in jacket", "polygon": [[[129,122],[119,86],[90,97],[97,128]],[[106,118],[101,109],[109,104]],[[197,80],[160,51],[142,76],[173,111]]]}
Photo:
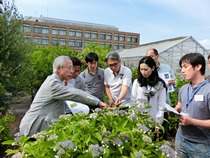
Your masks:
{"label": "bright green leafy bush directly behind the grey-haired man in jacket", "polygon": [[52,64],[59,55],[76,56],[77,52],[68,47],[35,47],[27,53],[27,60],[22,64],[24,90],[34,97],[46,77],[53,73]]}

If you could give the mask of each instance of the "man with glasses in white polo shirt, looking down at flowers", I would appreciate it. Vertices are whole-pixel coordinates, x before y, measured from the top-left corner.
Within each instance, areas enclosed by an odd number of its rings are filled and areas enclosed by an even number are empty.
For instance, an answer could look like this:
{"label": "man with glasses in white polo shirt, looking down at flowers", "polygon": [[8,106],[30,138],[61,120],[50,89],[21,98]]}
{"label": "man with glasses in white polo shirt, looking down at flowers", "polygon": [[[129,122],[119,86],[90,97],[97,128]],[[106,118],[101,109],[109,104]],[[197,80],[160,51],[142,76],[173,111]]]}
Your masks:
{"label": "man with glasses in white polo shirt, looking down at flowers", "polygon": [[105,58],[108,68],[104,70],[104,84],[109,98],[109,106],[129,107],[132,89],[132,72],[121,64],[116,52],[107,54]]}

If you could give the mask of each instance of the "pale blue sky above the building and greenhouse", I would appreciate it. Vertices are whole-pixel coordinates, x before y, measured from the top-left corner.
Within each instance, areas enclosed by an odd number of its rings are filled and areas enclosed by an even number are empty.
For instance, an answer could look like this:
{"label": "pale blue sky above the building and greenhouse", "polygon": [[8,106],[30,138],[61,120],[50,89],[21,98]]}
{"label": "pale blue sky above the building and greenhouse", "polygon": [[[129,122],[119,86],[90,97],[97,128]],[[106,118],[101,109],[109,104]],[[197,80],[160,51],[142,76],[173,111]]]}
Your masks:
{"label": "pale blue sky above the building and greenhouse", "polygon": [[15,5],[23,16],[113,25],[139,33],[140,44],[192,36],[210,49],[210,0],[15,0]]}

